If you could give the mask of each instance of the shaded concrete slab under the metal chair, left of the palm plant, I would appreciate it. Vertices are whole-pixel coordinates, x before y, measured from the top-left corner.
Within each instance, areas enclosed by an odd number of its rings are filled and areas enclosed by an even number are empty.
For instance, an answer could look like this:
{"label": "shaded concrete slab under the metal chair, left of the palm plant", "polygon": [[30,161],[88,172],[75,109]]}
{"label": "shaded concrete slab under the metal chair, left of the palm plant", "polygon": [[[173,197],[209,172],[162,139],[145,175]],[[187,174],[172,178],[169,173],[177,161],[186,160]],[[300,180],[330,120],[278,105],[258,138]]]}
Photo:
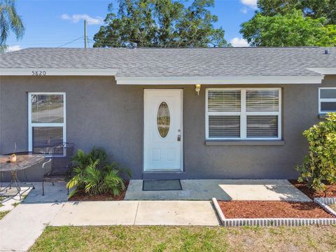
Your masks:
{"label": "shaded concrete slab under the metal chair, left of the palm plant", "polygon": [[29,195],[25,198],[26,203],[38,203],[38,202],[66,202],[68,200],[65,182],[44,183],[44,196],[42,195],[42,182],[34,183],[35,189],[31,190]]}

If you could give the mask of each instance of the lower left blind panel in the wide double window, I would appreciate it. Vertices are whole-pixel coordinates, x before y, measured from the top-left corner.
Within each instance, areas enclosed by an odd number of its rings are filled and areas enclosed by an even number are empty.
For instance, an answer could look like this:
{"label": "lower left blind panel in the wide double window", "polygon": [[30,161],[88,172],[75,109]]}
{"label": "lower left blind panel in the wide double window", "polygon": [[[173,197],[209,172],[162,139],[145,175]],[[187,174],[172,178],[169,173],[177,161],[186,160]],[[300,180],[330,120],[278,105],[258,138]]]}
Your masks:
{"label": "lower left blind panel in the wide double window", "polygon": [[209,116],[209,137],[240,137],[240,116]]}

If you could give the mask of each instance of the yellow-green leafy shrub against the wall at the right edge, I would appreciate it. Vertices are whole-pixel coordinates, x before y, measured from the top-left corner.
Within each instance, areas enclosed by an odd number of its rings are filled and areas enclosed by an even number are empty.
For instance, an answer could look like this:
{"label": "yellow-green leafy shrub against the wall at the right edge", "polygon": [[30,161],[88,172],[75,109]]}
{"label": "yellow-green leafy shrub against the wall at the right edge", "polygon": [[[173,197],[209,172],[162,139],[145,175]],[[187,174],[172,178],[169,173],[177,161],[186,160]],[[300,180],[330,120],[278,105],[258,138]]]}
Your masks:
{"label": "yellow-green leafy shrub against the wall at the right edge", "polygon": [[327,120],[303,132],[309,143],[309,153],[297,166],[299,182],[309,188],[325,191],[336,184],[336,113],[328,113]]}

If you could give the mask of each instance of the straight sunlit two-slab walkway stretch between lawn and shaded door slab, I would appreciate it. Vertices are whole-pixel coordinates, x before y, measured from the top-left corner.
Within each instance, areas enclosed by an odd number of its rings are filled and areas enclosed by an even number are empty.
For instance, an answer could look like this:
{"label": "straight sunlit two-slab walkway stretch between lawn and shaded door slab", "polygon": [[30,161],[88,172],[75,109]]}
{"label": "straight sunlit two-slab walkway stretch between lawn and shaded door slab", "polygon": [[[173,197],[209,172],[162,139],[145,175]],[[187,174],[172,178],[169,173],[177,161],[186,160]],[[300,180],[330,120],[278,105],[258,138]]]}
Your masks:
{"label": "straight sunlit two-slab walkway stretch between lawn and shaded door slab", "polygon": [[50,225],[213,226],[218,220],[208,201],[66,202]]}

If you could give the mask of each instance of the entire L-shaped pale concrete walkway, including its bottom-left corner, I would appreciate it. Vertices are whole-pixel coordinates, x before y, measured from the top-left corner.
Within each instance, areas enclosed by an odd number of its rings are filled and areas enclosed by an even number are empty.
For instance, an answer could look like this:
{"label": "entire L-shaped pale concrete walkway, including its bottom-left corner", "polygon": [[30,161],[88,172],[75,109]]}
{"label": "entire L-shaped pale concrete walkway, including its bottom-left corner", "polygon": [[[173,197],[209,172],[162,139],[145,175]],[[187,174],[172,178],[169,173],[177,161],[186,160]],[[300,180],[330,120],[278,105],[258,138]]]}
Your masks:
{"label": "entire L-shaped pale concrete walkway, including its bottom-left corner", "polygon": [[0,221],[0,251],[28,251],[46,225],[219,225],[211,202],[22,203]]}

